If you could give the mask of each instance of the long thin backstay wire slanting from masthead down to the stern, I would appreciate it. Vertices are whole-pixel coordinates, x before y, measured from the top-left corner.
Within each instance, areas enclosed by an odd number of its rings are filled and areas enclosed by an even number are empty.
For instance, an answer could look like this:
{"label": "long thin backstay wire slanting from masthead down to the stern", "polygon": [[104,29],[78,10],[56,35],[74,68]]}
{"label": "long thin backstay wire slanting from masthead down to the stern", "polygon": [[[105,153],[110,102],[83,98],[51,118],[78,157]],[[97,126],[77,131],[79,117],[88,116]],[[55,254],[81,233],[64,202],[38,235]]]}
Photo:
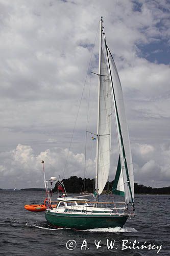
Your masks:
{"label": "long thin backstay wire slanting from masthead down to the stern", "polygon": [[71,135],[71,141],[70,141],[69,148],[68,148],[68,153],[67,153],[67,158],[66,158],[66,162],[65,162],[62,178],[64,177],[64,174],[65,174],[65,168],[66,168],[67,161],[68,161],[68,155],[69,155],[69,152],[70,152],[70,148],[71,148],[71,144],[72,144],[72,139],[73,139],[73,136],[74,136],[74,133],[75,133],[75,129],[76,129],[77,119],[78,119],[78,116],[79,116],[80,106],[81,106],[81,102],[82,102],[82,98],[83,98],[83,93],[84,93],[84,89],[85,89],[85,85],[86,85],[87,76],[88,76],[88,73],[89,73],[89,68],[90,68],[90,64],[91,64],[91,59],[92,59],[94,45],[95,45],[96,37],[98,35],[98,31],[99,31],[99,25],[98,25],[98,29],[97,29],[97,32],[96,32],[96,35],[95,35],[95,39],[94,39],[94,44],[93,44],[93,48],[92,48],[92,52],[91,52],[91,56],[90,56],[90,61],[89,61],[89,65],[88,65],[88,69],[87,69],[87,73],[86,73],[86,77],[85,77],[85,82],[84,82],[83,91],[82,91],[82,95],[81,95],[81,99],[80,99],[80,103],[79,103],[79,108],[78,108],[78,113],[77,113],[77,116],[76,116],[76,121],[75,121],[74,129],[73,129],[72,135]]}

